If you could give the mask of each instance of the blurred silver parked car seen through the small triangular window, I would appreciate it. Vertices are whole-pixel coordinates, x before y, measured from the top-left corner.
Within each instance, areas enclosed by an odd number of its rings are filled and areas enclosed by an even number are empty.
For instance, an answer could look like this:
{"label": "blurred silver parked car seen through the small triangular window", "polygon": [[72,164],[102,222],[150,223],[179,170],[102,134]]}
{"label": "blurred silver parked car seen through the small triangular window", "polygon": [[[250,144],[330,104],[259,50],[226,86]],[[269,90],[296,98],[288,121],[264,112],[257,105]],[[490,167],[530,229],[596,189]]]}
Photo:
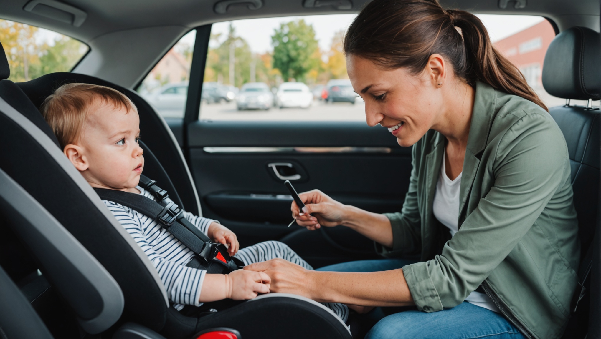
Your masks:
{"label": "blurred silver parked car seen through the small triangular window", "polygon": [[167,117],[182,116],[188,97],[188,82],[169,83],[158,91],[143,95],[160,115]]}

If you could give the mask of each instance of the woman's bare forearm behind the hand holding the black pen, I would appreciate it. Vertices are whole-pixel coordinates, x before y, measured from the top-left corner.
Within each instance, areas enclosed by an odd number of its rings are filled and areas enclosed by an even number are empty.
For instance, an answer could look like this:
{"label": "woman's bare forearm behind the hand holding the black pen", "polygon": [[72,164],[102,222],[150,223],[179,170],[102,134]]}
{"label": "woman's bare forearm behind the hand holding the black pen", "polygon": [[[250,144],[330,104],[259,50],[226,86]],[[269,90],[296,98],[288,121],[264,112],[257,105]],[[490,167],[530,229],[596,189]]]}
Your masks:
{"label": "woman's bare forearm behind the hand holding the black pen", "polygon": [[346,205],[345,208],[342,225],[356,230],[386,247],[392,247],[392,226],[385,215],[368,212],[350,205]]}

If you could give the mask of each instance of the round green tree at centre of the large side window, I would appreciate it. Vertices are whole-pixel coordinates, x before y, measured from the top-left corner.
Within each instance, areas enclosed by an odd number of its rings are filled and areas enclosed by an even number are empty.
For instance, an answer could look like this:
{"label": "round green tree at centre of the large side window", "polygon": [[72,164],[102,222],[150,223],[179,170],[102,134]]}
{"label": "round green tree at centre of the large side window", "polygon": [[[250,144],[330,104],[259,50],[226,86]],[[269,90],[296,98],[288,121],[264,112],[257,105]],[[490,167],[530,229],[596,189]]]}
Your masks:
{"label": "round green tree at centre of the large side window", "polygon": [[319,68],[319,52],[315,30],[305,20],[282,23],[272,39],[273,68],[284,80],[304,81],[314,68]]}

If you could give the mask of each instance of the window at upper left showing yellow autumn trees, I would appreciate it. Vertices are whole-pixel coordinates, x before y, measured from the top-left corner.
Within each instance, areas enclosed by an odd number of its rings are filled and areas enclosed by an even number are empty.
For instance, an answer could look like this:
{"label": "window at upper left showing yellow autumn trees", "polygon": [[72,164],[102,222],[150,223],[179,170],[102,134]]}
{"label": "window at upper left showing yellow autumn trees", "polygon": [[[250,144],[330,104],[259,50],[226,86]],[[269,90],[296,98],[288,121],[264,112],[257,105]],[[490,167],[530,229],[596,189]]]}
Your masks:
{"label": "window at upper left showing yellow autumn trees", "polygon": [[0,41],[10,67],[8,80],[13,82],[69,72],[90,50],[87,44],[66,35],[2,19]]}

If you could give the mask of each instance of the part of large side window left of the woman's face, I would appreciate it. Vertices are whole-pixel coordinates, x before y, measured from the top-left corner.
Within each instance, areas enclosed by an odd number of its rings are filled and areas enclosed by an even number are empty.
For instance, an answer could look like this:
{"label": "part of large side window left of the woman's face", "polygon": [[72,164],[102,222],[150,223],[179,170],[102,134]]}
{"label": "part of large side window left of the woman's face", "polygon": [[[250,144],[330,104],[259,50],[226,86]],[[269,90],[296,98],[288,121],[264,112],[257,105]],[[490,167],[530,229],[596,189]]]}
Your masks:
{"label": "part of large side window left of the woman's face", "polygon": [[350,84],[342,41],[355,16],[214,23],[204,81],[240,90],[231,99],[203,91],[200,119],[364,121],[361,98],[352,90],[323,97],[332,79]]}

